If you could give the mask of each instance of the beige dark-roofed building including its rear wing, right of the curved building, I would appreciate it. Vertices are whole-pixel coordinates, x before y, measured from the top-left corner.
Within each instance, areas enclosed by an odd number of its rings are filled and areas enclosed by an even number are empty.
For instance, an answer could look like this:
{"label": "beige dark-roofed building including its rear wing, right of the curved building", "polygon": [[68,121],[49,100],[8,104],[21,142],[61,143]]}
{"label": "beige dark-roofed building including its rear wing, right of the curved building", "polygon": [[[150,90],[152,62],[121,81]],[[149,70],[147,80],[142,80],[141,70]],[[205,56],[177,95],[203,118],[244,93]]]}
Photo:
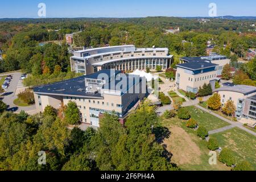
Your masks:
{"label": "beige dark-roofed building including its rear wing, right of the curved building", "polygon": [[185,92],[197,93],[200,86],[210,84],[215,89],[215,82],[221,76],[224,65],[230,60],[225,56],[181,57],[177,64],[176,87]]}

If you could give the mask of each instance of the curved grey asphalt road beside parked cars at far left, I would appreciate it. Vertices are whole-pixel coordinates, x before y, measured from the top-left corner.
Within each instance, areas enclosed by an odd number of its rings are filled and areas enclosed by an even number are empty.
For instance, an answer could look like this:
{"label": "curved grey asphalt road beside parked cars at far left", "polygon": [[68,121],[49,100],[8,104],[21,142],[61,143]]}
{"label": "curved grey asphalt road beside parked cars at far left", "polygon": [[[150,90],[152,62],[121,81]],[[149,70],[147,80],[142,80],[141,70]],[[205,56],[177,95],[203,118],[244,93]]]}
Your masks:
{"label": "curved grey asphalt road beside parked cars at far left", "polygon": [[9,111],[16,111],[16,112],[20,112],[22,110],[24,111],[31,111],[31,110],[35,110],[36,107],[35,105],[32,106],[28,106],[28,107],[19,107],[13,104],[13,101],[18,98],[17,96],[15,96],[15,92],[16,92],[16,88],[18,86],[18,82],[19,82],[19,78],[22,75],[22,73],[20,72],[14,72],[14,73],[10,73],[8,75],[13,75],[13,79],[10,82],[9,87],[6,89],[6,92],[4,94],[4,98],[3,98],[3,102],[5,102],[5,104],[7,104],[9,107],[7,110]]}

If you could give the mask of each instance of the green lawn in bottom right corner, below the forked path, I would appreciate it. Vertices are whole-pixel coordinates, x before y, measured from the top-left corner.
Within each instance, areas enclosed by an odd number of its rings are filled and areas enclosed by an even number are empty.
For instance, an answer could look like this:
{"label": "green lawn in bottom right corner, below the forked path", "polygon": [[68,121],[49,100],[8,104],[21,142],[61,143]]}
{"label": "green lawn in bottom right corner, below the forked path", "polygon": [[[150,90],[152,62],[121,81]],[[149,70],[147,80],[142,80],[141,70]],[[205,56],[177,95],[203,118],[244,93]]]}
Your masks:
{"label": "green lawn in bottom right corner, below the forked path", "polygon": [[210,135],[217,138],[220,147],[235,152],[237,160],[247,160],[256,170],[256,137],[238,128]]}

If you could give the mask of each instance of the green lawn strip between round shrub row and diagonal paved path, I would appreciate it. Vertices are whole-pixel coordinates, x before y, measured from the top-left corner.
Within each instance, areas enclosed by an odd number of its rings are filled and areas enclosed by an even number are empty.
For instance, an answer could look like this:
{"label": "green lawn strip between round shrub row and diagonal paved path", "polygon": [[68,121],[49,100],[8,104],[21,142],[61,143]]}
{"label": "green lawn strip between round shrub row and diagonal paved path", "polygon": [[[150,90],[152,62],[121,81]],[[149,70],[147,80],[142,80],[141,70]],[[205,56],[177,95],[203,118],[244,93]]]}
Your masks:
{"label": "green lawn strip between round shrub row and diagonal paved path", "polygon": [[199,126],[204,126],[208,131],[220,129],[230,124],[212,114],[205,113],[205,111],[198,109],[195,106],[189,106],[187,109],[191,113],[191,118],[195,119]]}

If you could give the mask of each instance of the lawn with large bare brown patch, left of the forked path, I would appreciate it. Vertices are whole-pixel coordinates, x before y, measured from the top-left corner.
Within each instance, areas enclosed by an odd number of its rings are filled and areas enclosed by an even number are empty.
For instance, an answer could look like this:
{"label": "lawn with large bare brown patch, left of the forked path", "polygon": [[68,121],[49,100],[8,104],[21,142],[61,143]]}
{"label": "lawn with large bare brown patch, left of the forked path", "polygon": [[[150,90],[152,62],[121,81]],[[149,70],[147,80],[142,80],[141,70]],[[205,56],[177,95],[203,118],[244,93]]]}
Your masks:
{"label": "lawn with large bare brown patch, left of the forked path", "polygon": [[[188,107],[188,109],[191,110],[191,115],[199,115],[194,106]],[[217,122],[214,122],[210,128],[216,129],[219,126],[227,125],[224,121],[218,120],[218,118],[210,118],[211,115],[208,113],[201,113],[200,115],[196,118],[200,126],[206,126],[212,120]],[[207,120],[205,118],[210,118],[210,121],[205,121]],[[170,138],[164,140],[167,150],[173,154],[171,160],[172,162],[177,163],[182,170],[230,170],[229,167],[226,167],[220,162],[217,162],[217,165],[209,164],[207,141],[197,137],[195,130],[188,129],[185,126],[186,121],[177,117],[171,119],[162,118],[162,125],[167,127],[171,132]]]}

